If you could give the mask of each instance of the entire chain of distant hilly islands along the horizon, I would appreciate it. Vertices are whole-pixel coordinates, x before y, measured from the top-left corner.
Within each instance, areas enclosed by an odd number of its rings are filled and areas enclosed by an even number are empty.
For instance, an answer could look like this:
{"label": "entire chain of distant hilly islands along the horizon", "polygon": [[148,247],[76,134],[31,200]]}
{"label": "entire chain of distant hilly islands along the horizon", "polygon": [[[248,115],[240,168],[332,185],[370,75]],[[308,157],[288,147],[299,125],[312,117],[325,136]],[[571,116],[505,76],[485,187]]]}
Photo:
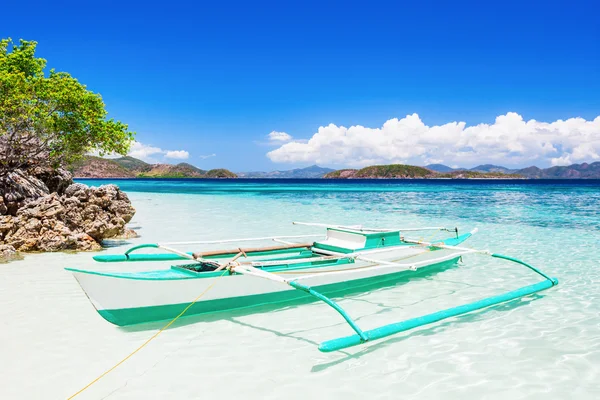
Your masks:
{"label": "entire chain of distant hilly islands along the horizon", "polygon": [[287,171],[231,172],[203,170],[188,163],[150,164],[133,157],[85,156],[70,167],[76,178],[244,178],[244,179],[600,179],[600,161],[564,167],[531,166],[510,169],[483,164],[473,168],[452,168],[443,164],[418,167],[404,164],[373,165],[361,169],[334,170],[318,165]]}

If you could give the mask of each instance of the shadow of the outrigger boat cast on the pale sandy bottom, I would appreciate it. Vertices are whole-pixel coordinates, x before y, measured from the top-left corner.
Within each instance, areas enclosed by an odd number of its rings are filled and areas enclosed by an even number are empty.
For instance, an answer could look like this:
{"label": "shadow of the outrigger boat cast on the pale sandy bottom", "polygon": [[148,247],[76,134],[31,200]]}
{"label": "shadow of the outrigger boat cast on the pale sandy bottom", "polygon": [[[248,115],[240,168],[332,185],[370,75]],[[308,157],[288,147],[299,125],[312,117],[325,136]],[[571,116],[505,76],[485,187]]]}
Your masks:
{"label": "shadow of the outrigger boat cast on the pale sandy bottom", "polygon": [[[374,316],[377,314],[388,313],[388,312],[392,311],[393,309],[405,307],[405,306],[395,307],[395,306],[389,306],[389,305],[385,305],[385,304],[381,304],[381,303],[373,303],[373,302],[369,301],[367,298],[365,298],[373,291],[395,290],[396,288],[406,285],[410,282],[422,280],[422,279],[428,279],[432,276],[435,276],[437,274],[440,274],[440,273],[448,271],[448,270],[455,269],[457,267],[458,267],[458,264],[451,264],[451,265],[446,264],[446,265],[442,265],[442,266],[426,267],[423,269],[419,269],[418,271],[406,271],[405,273],[401,274],[400,276],[396,277],[393,280],[380,282],[378,284],[363,285],[363,286],[359,286],[359,287],[355,286],[355,287],[352,287],[347,290],[340,290],[335,293],[329,293],[329,295],[331,295],[332,297],[336,297],[338,299],[341,297],[344,297],[344,296],[358,295],[358,297],[354,297],[351,299],[353,301],[368,302],[368,303],[372,303],[374,305],[383,307],[382,309],[378,310],[375,313],[365,314],[365,315],[355,319],[355,321],[360,322],[360,320],[363,318],[371,317],[371,316]],[[446,294],[444,294],[444,295],[446,295]],[[455,325],[455,324],[460,324],[460,323],[472,323],[472,322],[482,320],[484,318],[484,315],[491,311],[500,311],[500,312],[511,311],[511,310],[517,309],[519,307],[526,306],[529,303],[531,303],[532,301],[541,299],[543,297],[544,297],[544,295],[536,293],[536,294],[527,296],[526,298],[519,298],[519,299],[511,300],[511,301],[508,301],[505,303],[501,303],[501,304],[490,306],[490,307],[487,307],[484,309],[473,311],[468,314],[456,316],[449,320],[438,322],[429,327],[415,328],[415,329],[412,329],[412,330],[404,332],[404,333],[396,334],[396,335],[391,336],[386,339],[377,340],[377,341],[374,341],[373,343],[369,343],[369,344],[366,344],[363,346],[357,346],[354,348],[354,350],[339,350],[339,351],[332,353],[332,355],[338,356],[335,360],[328,361],[328,362],[321,363],[321,364],[316,364],[312,367],[311,372],[320,372],[320,371],[326,370],[327,368],[347,362],[349,360],[358,359],[358,358],[365,356],[373,351],[381,349],[382,347],[386,347],[386,346],[392,345],[394,343],[404,341],[406,339],[410,339],[413,337],[419,337],[419,336],[431,336],[431,335],[438,334],[438,333],[444,331],[450,325]],[[429,297],[428,299],[431,299],[431,297]],[[317,300],[315,300],[314,297],[307,295],[307,296],[303,296],[299,299],[289,300],[289,301],[280,302],[280,303],[256,305],[256,306],[247,307],[247,308],[240,308],[240,309],[234,309],[234,310],[228,310],[228,311],[218,311],[218,312],[202,314],[202,315],[191,315],[191,316],[187,316],[187,317],[183,316],[179,320],[177,320],[175,323],[173,323],[173,325],[171,325],[169,327],[169,329],[177,329],[179,327],[192,325],[192,324],[196,324],[196,323],[200,323],[200,322],[210,323],[210,322],[215,322],[215,321],[228,321],[228,322],[234,323],[236,325],[239,325],[241,327],[249,327],[249,328],[256,329],[256,330],[259,330],[262,332],[267,332],[267,333],[273,334],[277,337],[294,339],[294,340],[298,340],[298,341],[301,341],[304,343],[309,343],[314,346],[318,346],[319,342],[315,342],[313,340],[306,338],[305,333],[313,331],[315,329],[334,328],[337,326],[345,325],[345,322],[343,320],[340,321],[340,320],[336,319],[334,323],[329,324],[329,325],[325,325],[325,326],[320,325],[318,327],[310,327],[307,329],[300,329],[300,330],[295,330],[292,332],[283,333],[276,329],[253,325],[253,324],[250,324],[247,322],[242,322],[237,319],[237,318],[241,318],[241,317],[251,315],[251,314],[289,311],[289,310],[295,309],[299,306],[310,304],[310,303],[316,303],[316,302],[317,302]],[[118,329],[125,331],[125,332],[157,330],[157,329],[163,328],[166,325],[166,322],[168,322],[168,321],[142,323],[142,324],[137,324],[137,325],[118,327]],[[390,322],[394,322],[394,321],[390,321]],[[323,339],[327,339],[327,338],[323,338]]]}

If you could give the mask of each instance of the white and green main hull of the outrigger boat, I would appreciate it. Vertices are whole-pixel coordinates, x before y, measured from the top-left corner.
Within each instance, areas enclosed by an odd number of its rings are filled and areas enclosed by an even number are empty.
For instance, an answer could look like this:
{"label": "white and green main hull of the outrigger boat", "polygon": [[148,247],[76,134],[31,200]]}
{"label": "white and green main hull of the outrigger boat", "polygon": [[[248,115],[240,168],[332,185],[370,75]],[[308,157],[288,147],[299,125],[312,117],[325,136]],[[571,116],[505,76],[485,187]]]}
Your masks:
{"label": "white and green main hull of the outrigger boat", "polygon": [[[416,259],[422,261],[423,256],[418,255],[422,253],[422,248],[399,247],[397,250],[382,253],[377,258],[393,262],[417,255]],[[440,261],[441,253],[445,253],[445,256],[441,257]],[[428,252],[427,256],[432,259],[433,265],[438,266],[454,264],[459,257],[454,257],[451,252],[445,251]],[[343,294],[356,286],[381,284],[384,281],[406,276],[407,273],[406,270],[394,268],[362,268],[372,265],[356,261],[342,265],[313,266],[279,274],[285,279],[310,274],[310,278],[301,281],[303,285],[324,293]],[[348,269],[355,271],[339,274],[323,273],[319,276],[321,272]],[[119,277],[118,274],[90,271],[72,270],[72,272],[100,315],[121,326],[174,318],[200,294],[203,295],[188,309],[186,316],[309,297],[285,284],[248,275],[229,275],[228,272],[223,276],[180,279],[138,279],[135,276],[124,278]]]}

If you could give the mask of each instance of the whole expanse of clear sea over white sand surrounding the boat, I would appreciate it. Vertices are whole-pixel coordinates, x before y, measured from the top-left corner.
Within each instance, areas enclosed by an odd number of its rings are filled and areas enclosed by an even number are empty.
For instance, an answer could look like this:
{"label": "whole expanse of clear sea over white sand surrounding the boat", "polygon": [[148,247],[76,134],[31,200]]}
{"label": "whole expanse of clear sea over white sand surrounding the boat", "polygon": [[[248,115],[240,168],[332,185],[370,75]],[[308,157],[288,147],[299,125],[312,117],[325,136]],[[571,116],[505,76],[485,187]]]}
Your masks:
{"label": "whole expanse of clear sea over white sand surrounding the boat", "polygon": [[[600,398],[598,181],[117,183],[137,209],[130,225],[141,237],[112,243],[111,253],[145,242],[319,233],[295,220],[477,227],[469,246],[530,261],[560,284],[328,354],[318,343],[351,331],[322,304],[191,317],[77,399]],[[66,398],[161,326],[104,321],[64,267],[161,266],[64,253],[0,265],[0,398]],[[340,303],[369,329],[537,280],[525,268],[471,255],[456,268]]]}

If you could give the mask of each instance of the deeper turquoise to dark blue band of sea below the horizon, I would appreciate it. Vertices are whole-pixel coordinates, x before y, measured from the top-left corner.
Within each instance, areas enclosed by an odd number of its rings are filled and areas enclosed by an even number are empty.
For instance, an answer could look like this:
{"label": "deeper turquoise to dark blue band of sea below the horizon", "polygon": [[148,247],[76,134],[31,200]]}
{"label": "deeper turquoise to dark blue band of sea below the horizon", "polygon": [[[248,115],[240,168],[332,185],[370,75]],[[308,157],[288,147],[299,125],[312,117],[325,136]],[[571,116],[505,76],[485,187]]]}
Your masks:
{"label": "deeper turquoise to dark blue band of sea below the horizon", "polygon": [[599,229],[600,180],[81,180],[126,192],[249,196],[347,210]]}

